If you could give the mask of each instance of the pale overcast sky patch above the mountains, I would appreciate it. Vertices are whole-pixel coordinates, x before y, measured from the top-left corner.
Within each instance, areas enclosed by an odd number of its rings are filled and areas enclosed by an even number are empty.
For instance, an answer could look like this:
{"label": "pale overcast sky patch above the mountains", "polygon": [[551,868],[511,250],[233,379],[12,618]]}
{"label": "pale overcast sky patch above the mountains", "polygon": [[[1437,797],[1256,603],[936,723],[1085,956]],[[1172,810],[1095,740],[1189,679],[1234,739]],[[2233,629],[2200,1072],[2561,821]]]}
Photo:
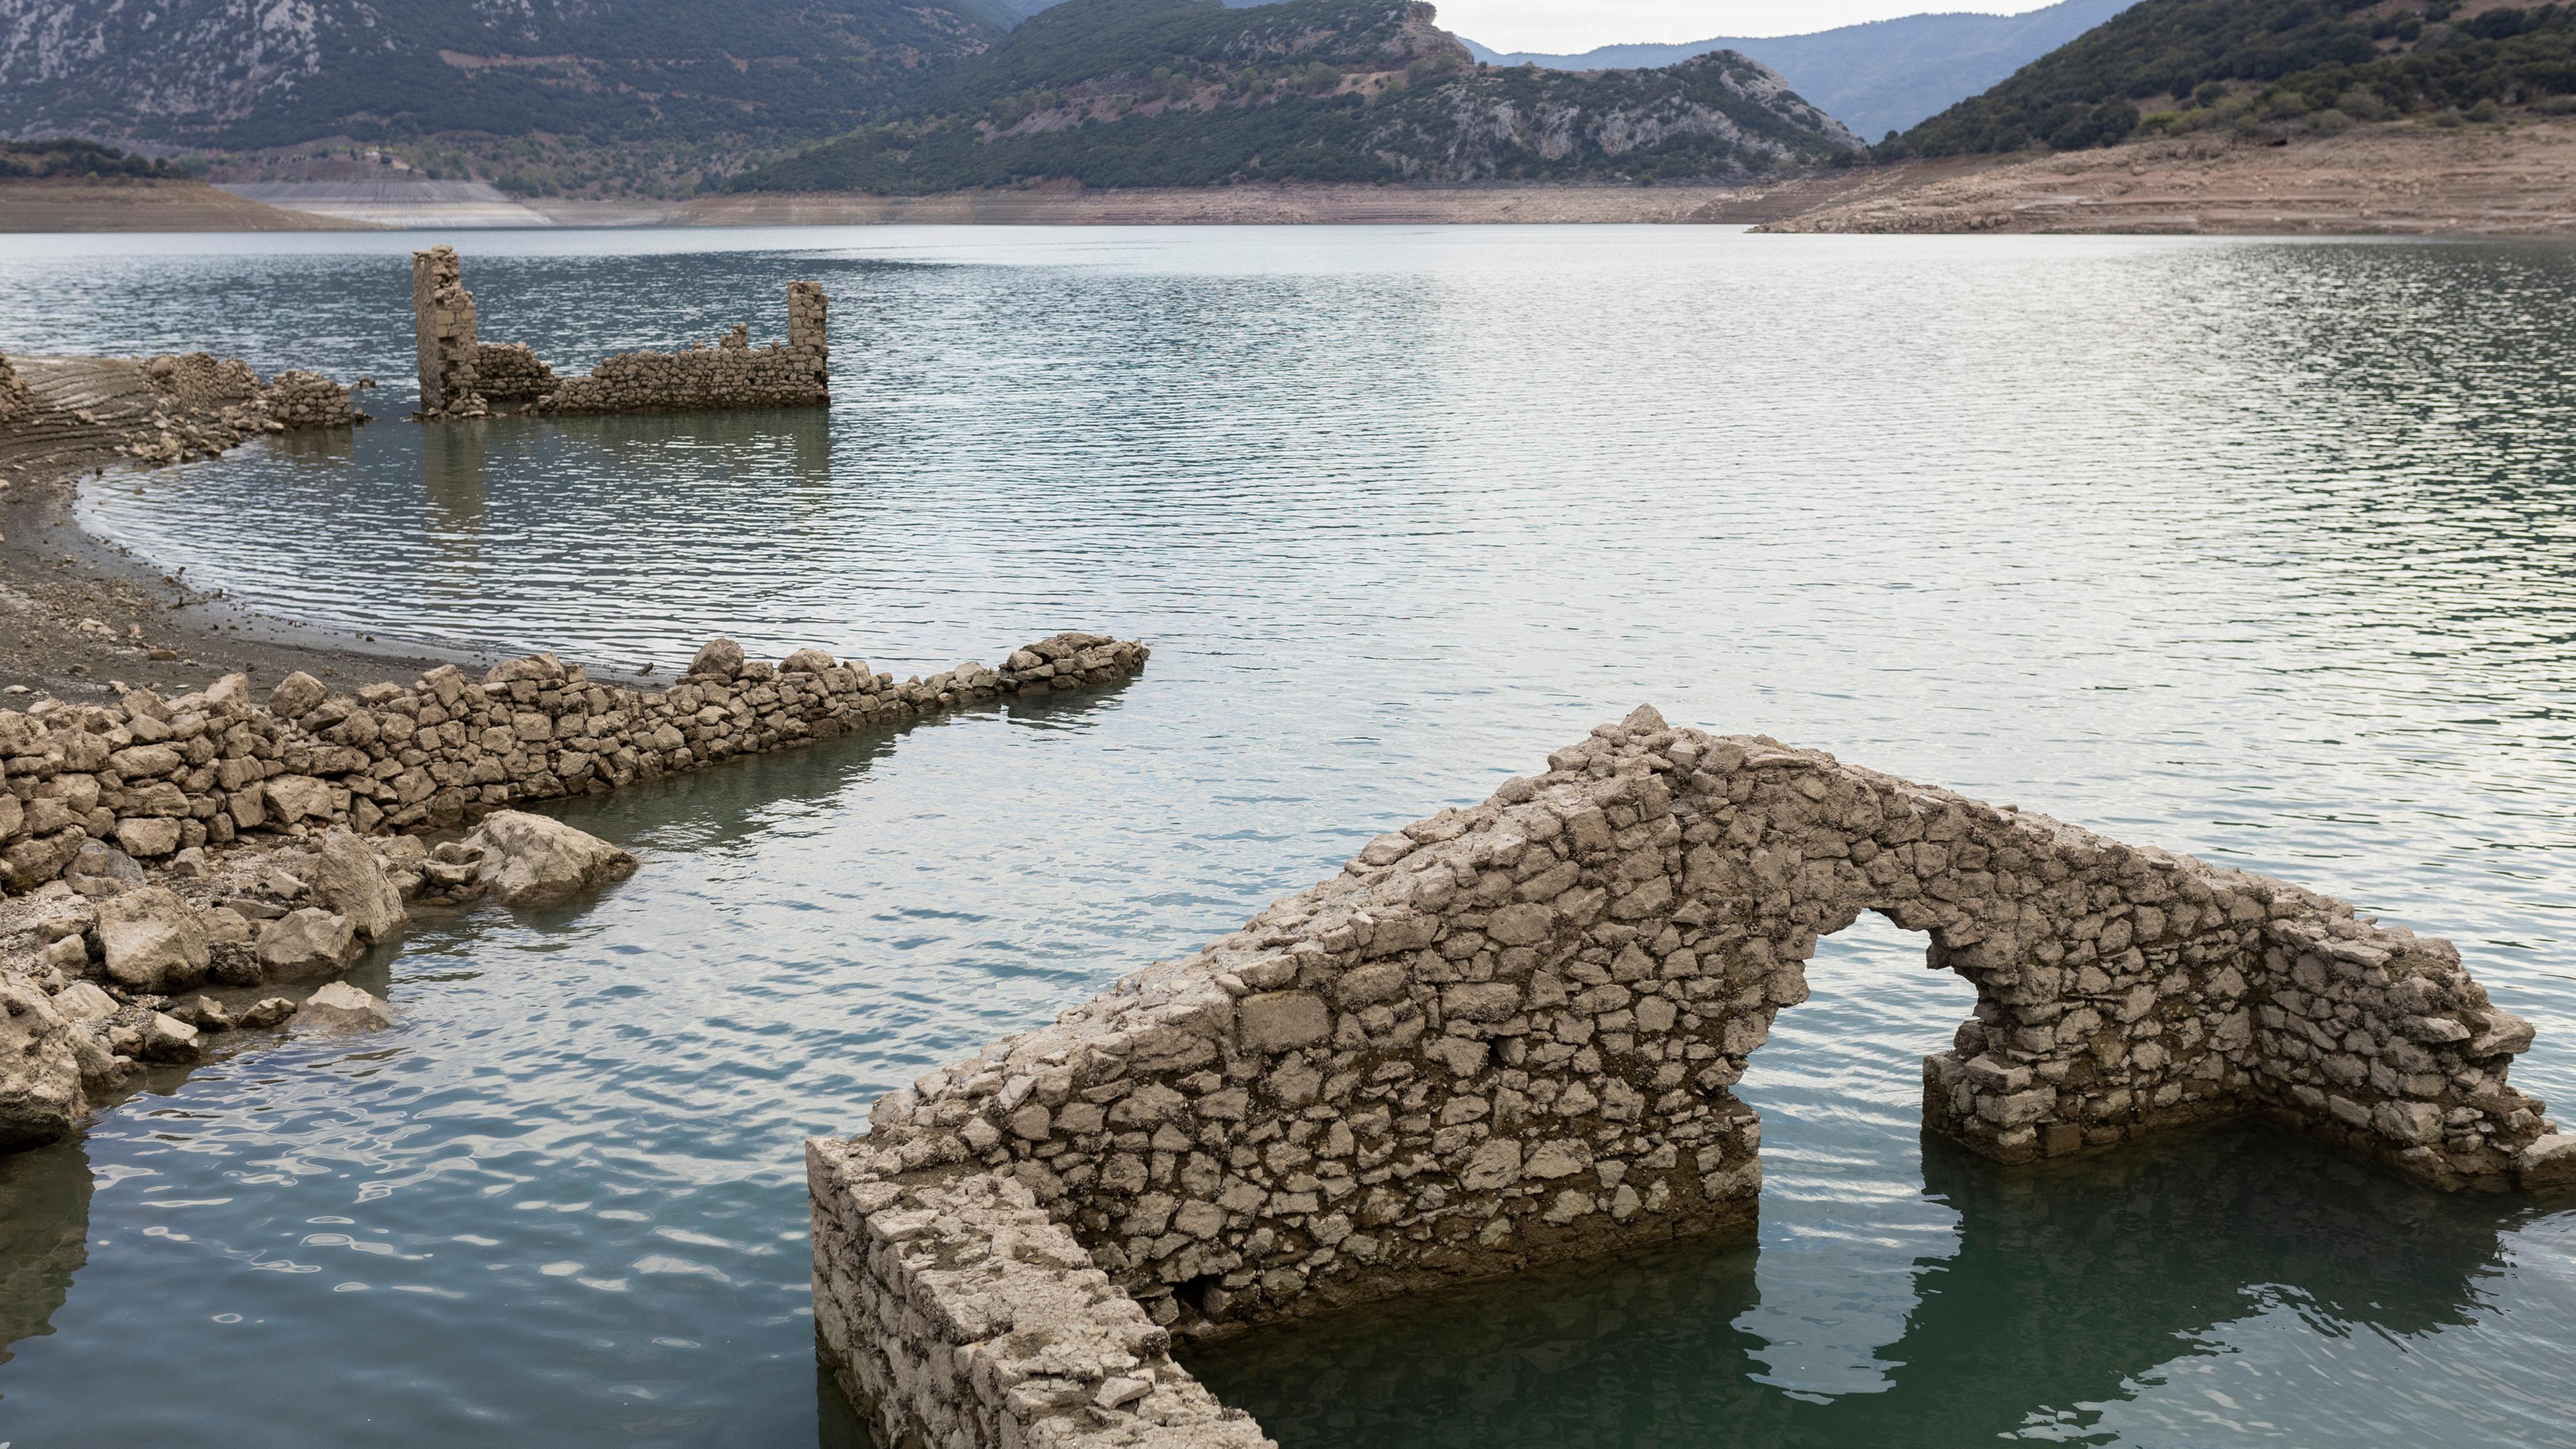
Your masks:
{"label": "pale overcast sky patch above the mountains", "polygon": [[1432,0],[1440,28],[1499,52],[1587,52],[1620,41],[1801,36],[1924,10],[2020,15],[2053,0]]}

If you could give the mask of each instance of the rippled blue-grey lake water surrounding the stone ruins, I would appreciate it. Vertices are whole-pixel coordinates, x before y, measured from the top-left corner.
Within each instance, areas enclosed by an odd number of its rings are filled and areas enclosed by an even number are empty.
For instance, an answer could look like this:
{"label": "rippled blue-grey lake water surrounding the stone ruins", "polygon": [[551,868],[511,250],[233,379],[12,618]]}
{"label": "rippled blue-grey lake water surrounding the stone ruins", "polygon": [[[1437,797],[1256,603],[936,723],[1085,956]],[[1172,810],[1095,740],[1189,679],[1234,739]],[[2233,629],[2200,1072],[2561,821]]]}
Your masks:
{"label": "rippled blue-grey lake water surrounding the stone ruins", "polygon": [[[374,374],[350,441],[93,482],[394,642],[1133,683],[567,807],[577,913],[433,920],[399,1026],[0,1160],[13,1444],[796,1444],[799,1137],[1654,701],[2452,936],[2576,1119],[2576,250],[1721,229],[466,240],[562,366],[835,299],[835,402],[420,428],[440,237],[10,237],[0,345]],[[1744,1096],[1759,1238],[1252,1336],[1291,1449],[2576,1444],[2576,1204],[2269,1129],[1917,1132],[1971,1006],[1875,918]]]}

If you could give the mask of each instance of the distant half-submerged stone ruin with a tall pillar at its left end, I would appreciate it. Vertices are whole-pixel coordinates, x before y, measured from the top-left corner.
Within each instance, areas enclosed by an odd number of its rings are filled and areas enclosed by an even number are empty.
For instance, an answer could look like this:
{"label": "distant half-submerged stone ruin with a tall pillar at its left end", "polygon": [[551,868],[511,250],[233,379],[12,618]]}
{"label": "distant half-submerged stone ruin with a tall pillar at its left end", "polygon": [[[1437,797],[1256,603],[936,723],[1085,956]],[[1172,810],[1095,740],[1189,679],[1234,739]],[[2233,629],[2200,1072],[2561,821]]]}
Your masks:
{"label": "distant half-submerged stone ruin with a tall pillar at its left end", "polygon": [[495,402],[538,413],[688,413],[703,407],[819,407],[829,402],[827,302],[811,281],[788,284],[788,340],[752,345],[737,325],[716,345],[677,353],[616,353],[590,376],[556,376],[526,343],[484,343],[474,294],[453,248],[412,253],[412,338],[420,351],[420,415],[484,418]]}

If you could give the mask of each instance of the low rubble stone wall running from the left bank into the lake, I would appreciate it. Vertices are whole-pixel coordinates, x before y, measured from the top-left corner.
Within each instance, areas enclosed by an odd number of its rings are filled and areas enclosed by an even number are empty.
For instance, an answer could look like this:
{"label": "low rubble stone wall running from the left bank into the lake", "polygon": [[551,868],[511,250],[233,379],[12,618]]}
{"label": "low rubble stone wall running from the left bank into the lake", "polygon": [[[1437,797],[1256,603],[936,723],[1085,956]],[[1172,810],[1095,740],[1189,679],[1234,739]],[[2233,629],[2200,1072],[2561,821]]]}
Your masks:
{"label": "low rubble stone wall running from the left bank into the lake", "polygon": [[858,724],[1108,683],[1144,660],[1144,645],[1056,634],[1002,668],[963,663],[896,683],[822,650],[747,663],[716,639],[662,691],[592,683],[580,665],[536,655],[482,681],[446,665],[410,688],[355,694],[296,673],[265,706],[227,676],[180,699],[126,691],[118,706],[0,709],[0,877],[13,892],[44,884],[93,838],[157,859],[240,830],[459,825]]}

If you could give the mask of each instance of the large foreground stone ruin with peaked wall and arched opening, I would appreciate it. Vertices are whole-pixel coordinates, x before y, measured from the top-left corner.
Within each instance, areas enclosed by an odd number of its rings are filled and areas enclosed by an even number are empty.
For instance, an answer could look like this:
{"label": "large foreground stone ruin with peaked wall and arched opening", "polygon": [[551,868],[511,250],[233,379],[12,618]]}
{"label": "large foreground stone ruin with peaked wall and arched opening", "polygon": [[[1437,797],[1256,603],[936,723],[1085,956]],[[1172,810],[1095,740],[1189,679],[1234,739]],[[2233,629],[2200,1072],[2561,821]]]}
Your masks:
{"label": "large foreground stone ruin with peaked wall and arched opening", "polygon": [[817,1351],[889,1444],[1267,1444],[1175,1336],[1749,1225],[1731,1088],[1865,910],[1976,987],[1924,1127],[1986,1158],[2259,1114],[2576,1183],[2447,941],[1638,709],[809,1142]]}

